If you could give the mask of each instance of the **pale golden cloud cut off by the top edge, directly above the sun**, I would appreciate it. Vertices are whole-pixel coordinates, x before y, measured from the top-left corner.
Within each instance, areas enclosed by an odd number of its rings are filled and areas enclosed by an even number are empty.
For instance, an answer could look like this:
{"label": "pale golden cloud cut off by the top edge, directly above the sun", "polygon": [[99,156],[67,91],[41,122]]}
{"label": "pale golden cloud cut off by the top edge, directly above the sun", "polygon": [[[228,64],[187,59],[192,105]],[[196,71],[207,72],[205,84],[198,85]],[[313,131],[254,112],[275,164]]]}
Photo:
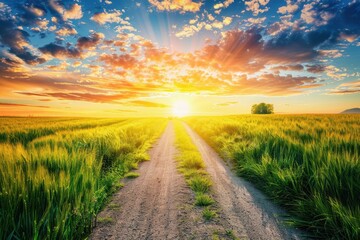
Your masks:
{"label": "pale golden cloud cut off by the top edge, directly above the sun", "polygon": [[202,2],[192,0],[149,0],[149,3],[159,11],[180,11],[180,12],[198,12]]}

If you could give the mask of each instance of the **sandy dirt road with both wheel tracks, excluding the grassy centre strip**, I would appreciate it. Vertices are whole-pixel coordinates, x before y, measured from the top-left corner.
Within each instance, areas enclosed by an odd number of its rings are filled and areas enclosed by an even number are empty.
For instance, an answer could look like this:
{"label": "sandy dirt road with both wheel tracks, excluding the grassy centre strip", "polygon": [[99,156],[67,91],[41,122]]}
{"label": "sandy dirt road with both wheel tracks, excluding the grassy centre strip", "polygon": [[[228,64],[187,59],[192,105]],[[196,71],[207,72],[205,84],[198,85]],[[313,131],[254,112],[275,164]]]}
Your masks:
{"label": "sandy dirt road with both wheel tracks, excluding the grassy centre strip", "polygon": [[128,180],[98,215],[90,239],[300,239],[275,216],[284,214],[258,190],[236,177],[222,159],[188,126],[214,182],[218,218],[203,220],[194,195],[176,170],[172,122],[140,165],[140,176]]}

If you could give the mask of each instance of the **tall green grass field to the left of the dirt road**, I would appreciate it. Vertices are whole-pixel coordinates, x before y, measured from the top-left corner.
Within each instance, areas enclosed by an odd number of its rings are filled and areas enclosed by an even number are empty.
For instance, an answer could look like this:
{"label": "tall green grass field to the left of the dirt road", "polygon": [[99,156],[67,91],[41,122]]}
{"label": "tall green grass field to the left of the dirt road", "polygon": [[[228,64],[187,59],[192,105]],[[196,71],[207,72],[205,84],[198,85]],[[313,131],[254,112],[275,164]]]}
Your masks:
{"label": "tall green grass field to the left of the dirt road", "polygon": [[[86,125],[87,119],[82,121],[78,124]],[[0,144],[0,239],[81,239],[89,233],[118,180],[148,159],[147,150],[166,124],[163,119],[105,122],[111,124],[98,121],[77,130],[69,124],[68,130],[26,145]]]}

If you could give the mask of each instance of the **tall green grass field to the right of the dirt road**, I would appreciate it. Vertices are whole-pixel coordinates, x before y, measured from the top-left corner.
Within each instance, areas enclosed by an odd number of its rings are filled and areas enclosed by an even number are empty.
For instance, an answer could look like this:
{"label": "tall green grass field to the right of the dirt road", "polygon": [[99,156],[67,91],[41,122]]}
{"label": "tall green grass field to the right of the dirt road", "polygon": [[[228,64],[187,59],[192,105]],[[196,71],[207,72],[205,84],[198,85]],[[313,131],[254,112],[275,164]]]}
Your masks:
{"label": "tall green grass field to the right of the dirt road", "polygon": [[360,116],[188,118],[237,172],[318,238],[360,239]]}

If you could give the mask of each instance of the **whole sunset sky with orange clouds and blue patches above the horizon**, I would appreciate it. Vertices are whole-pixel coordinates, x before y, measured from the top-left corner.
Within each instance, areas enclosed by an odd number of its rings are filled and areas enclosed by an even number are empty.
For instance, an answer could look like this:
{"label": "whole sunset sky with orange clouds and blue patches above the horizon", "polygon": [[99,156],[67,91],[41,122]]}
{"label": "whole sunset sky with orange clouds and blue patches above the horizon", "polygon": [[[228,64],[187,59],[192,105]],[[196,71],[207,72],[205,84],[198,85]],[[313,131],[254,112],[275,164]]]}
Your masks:
{"label": "whole sunset sky with orange clouds and blue patches above the horizon", "polygon": [[0,0],[0,116],[246,114],[260,102],[360,107],[360,0]]}

